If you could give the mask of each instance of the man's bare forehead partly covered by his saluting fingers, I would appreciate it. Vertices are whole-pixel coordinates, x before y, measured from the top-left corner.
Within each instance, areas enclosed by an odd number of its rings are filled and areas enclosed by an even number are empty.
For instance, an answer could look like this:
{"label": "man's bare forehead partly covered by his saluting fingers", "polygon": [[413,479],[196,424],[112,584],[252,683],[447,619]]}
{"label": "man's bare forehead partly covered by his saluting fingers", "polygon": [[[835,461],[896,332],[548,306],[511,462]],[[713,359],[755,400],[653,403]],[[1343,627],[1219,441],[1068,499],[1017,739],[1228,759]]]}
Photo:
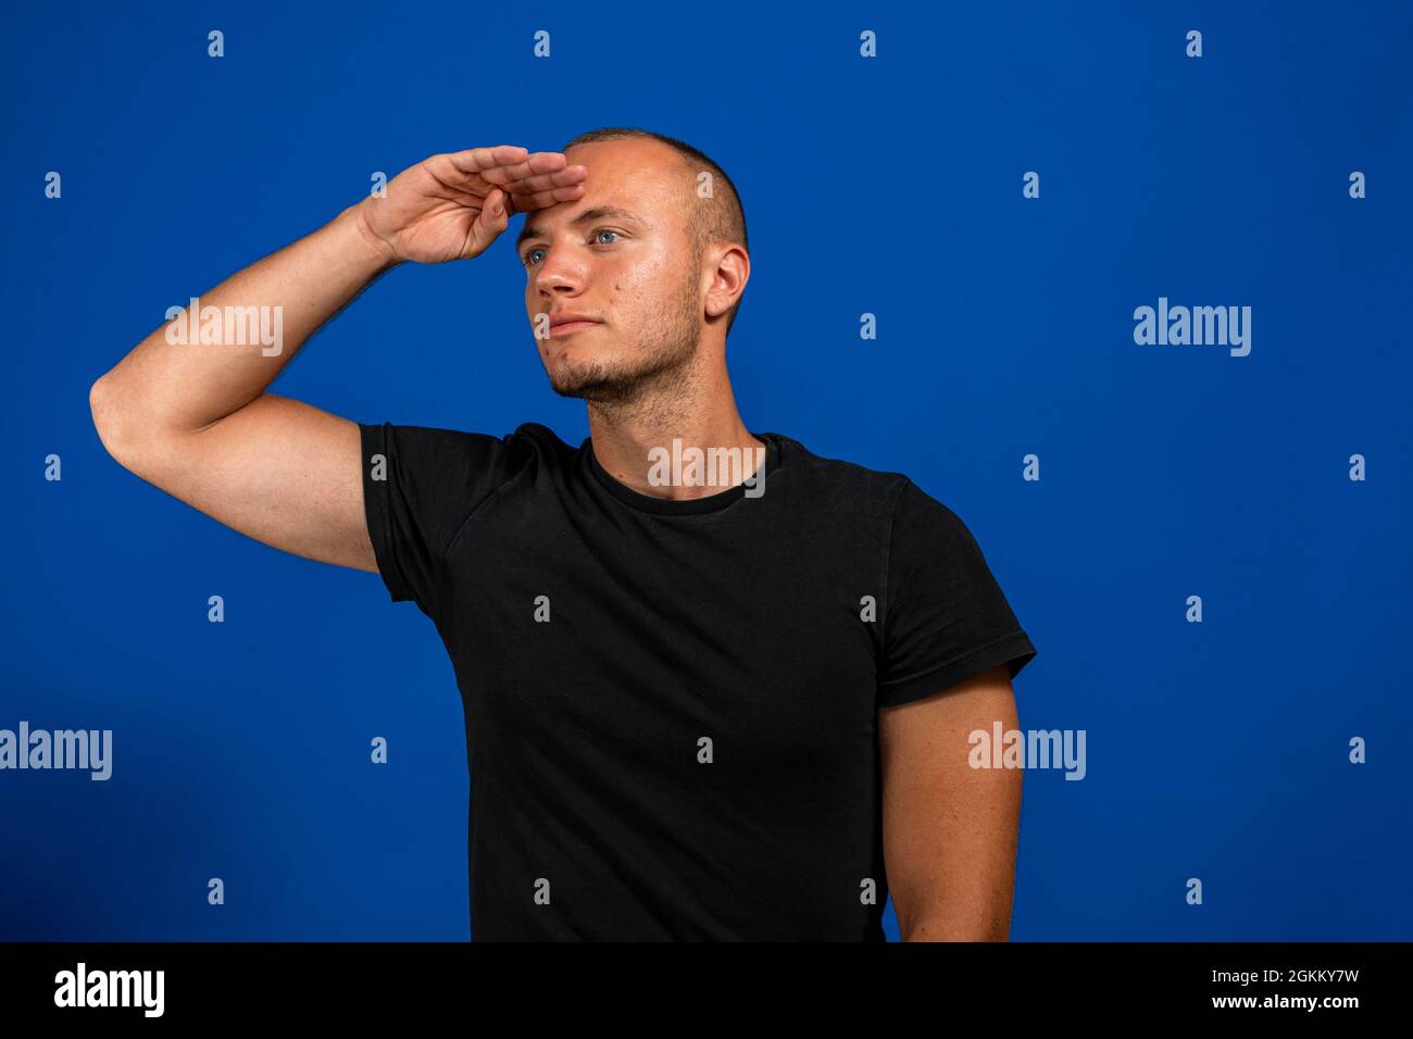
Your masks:
{"label": "man's bare forehead partly covered by his saluting fingers", "polygon": [[591,211],[634,213],[642,223],[673,228],[682,222],[682,191],[690,171],[674,148],[640,139],[589,141],[565,153],[568,165],[584,165],[584,196],[557,202],[526,216],[519,242],[543,237]]}

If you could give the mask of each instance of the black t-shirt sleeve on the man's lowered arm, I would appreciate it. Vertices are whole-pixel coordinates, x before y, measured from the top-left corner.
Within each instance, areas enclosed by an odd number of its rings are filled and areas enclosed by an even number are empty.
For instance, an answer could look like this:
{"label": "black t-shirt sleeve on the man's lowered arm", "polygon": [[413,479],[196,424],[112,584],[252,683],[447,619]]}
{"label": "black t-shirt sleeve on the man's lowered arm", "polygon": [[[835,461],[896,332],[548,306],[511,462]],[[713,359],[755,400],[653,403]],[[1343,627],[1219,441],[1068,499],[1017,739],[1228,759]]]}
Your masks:
{"label": "black t-shirt sleeve on the man's lowered arm", "polygon": [[1010,609],[981,546],[951,509],[909,481],[893,510],[879,705],[941,693],[1036,647]]}

